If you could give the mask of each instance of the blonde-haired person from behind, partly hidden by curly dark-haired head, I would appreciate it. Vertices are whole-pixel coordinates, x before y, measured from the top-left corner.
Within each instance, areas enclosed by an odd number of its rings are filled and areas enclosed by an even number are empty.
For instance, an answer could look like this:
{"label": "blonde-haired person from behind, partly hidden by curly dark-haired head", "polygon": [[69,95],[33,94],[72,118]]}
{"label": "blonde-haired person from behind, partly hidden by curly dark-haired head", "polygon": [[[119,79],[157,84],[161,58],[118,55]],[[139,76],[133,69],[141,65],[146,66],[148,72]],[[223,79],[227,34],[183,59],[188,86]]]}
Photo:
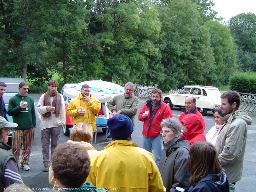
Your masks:
{"label": "blonde-haired person from behind, partly hidden by curly dark-haired head", "polygon": [[[72,140],[68,140],[67,143],[73,142],[73,143],[77,143],[77,144],[81,145],[82,147],[84,147],[87,150],[90,159],[96,153],[99,152],[90,143],[90,141],[93,138],[93,130],[92,130],[92,126],[89,124],[80,122],[80,123],[74,125],[70,132],[70,138]],[[56,192],[59,191],[59,190],[57,190],[59,188],[59,186],[53,177],[52,166],[50,166],[50,168],[49,168],[49,183],[51,185],[54,185],[53,191],[56,191]]]}

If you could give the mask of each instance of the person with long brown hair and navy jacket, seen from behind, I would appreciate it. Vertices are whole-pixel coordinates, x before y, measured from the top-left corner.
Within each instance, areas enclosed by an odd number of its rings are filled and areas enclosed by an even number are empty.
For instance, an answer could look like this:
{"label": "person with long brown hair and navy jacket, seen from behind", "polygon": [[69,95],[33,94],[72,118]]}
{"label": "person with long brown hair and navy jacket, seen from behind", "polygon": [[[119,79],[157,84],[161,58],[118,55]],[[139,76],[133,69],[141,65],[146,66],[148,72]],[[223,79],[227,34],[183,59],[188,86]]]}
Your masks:
{"label": "person with long brown hair and navy jacket, seen from behind", "polygon": [[188,192],[229,192],[228,179],[212,143],[195,142],[188,156]]}

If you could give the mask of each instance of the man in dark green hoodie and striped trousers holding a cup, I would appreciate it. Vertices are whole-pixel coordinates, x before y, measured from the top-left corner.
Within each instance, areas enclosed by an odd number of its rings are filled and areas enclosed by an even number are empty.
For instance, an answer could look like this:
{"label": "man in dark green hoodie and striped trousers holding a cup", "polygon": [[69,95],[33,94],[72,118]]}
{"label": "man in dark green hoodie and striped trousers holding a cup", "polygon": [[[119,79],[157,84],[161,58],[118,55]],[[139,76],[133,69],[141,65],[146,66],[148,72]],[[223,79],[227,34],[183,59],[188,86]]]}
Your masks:
{"label": "man in dark green hoodie and striped trousers holding a cup", "polygon": [[18,126],[12,132],[12,154],[18,163],[21,149],[20,168],[29,171],[28,160],[34,140],[36,127],[35,105],[32,97],[28,96],[28,84],[19,84],[19,93],[11,97],[7,114],[12,116]]}

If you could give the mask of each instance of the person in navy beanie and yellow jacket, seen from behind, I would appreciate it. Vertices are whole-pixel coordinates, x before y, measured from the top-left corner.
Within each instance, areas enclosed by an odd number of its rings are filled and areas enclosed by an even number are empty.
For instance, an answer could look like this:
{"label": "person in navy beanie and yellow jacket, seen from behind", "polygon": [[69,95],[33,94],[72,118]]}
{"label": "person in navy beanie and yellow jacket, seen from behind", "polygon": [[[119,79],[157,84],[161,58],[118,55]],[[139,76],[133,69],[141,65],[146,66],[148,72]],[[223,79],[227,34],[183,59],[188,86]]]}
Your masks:
{"label": "person in navy beanie and yellow jacket, seen from behind", "polygon": [[114,141],[92,157],[86,181],[108,191],[164,192],[152,153],[131,141],[132,120],[121,114],[109,118],[107,124]]}

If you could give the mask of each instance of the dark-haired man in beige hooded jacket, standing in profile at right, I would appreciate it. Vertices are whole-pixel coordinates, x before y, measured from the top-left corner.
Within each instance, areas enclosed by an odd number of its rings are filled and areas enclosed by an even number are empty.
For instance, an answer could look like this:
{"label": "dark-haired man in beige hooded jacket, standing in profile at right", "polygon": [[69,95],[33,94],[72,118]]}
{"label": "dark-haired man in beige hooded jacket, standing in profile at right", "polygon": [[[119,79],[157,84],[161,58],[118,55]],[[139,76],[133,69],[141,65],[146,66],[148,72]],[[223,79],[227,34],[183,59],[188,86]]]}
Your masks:
{"label": "dark-haired man in beige hooded jacket, standing in profile at right", "polygon": [[238,110],[241,101],[238,92],[224,92],[220,98],[220,108],[226,116],[221,117],[225,125],[218,135],[215,147],[228,182],[236,184],[242,177],[247,125],[252,124],[252,119],[245,110]]}

